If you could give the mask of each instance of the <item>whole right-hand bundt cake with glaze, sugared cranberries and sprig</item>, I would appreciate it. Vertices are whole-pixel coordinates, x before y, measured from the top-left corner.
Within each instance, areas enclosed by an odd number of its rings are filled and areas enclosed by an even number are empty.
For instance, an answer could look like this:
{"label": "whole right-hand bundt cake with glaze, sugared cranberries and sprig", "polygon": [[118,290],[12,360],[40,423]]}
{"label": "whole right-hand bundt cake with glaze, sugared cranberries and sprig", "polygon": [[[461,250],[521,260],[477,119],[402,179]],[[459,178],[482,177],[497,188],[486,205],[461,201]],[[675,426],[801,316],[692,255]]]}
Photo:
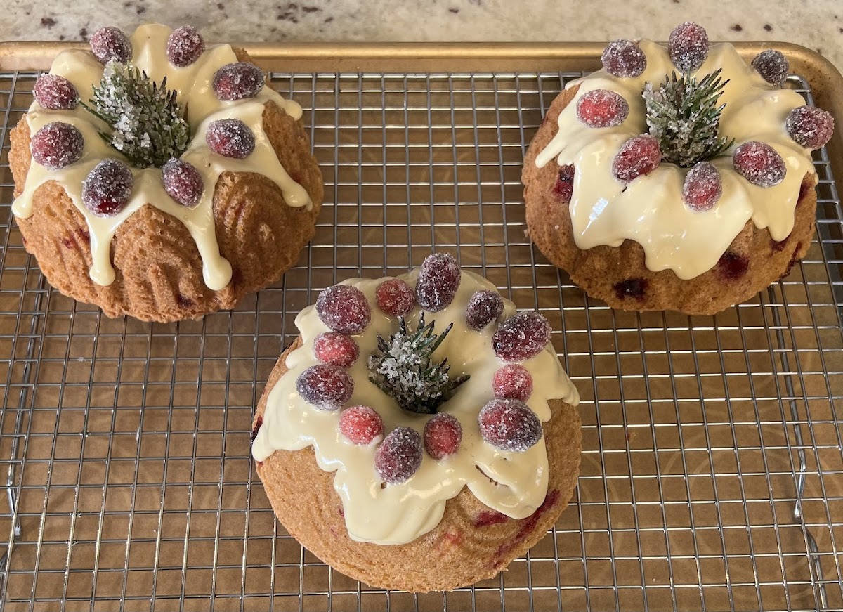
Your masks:
{"label": "whole right-hand bundt cake with glaze, sugared cranberries and sprig", "polygon": [[612,308],[714,314],[787,276],[813,236],[811,151],[831,115],[682,24],[615,40],[568,83],[524,159],[529,237]]}

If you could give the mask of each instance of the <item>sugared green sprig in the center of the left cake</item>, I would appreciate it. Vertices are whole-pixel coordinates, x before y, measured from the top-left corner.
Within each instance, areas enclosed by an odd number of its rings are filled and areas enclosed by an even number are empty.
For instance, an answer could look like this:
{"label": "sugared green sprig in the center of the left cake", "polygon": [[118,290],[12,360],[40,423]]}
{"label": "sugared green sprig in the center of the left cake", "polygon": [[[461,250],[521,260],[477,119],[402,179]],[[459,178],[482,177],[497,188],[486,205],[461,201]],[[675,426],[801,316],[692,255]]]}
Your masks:
{"label": "sugared green sprig in the center of the left cake", "polygon": [[131,64],[108,62],[90,105],[83,106],[110,126],[99,136],[132,165],[160,167],[184,153],[191,137],[175,94],[166,77],[159,85]]}

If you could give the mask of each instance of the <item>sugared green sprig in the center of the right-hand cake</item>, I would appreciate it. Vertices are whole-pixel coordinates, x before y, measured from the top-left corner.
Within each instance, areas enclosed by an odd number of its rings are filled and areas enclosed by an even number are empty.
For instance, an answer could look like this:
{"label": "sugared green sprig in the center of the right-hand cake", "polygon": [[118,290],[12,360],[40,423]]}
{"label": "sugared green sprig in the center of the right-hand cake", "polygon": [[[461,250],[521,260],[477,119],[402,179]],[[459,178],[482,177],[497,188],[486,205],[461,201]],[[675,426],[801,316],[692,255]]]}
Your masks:
{"label": "sugared green sprig in the center of the right-hand cake", "polygon": [[717,101],[726,83],[718,69],[701,81],[690,73],[678,76],[674,72],[658,89],[652,83],[644,86],[647,126],[661,146],[664,161],[690,168],[732,146],[734,139],[719,136],[720,114],[726,105]]}

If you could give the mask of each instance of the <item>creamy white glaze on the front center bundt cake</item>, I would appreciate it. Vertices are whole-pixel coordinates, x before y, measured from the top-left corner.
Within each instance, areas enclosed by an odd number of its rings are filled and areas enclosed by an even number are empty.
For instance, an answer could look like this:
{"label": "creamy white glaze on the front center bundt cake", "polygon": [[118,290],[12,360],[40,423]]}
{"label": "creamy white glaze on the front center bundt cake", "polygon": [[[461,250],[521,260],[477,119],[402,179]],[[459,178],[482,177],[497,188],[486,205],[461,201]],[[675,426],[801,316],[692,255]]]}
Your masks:
{"label": "creamy white glaze on the front center bundt cake", "polygon": [[[400,278],[415,286],[416,276],[417,270]],[[375,288],[384,280],[352,279],[343,284],[358,287],[369,303],[374,304]],[[454,329],[439,346],[436,357],[448,357],[452,375],[468,373],[471,377],[439,407],[439,411],[459,419],[463,429],[459,451],[441,461],[425,453],[415,475],[403,483],[384,488],[374,470],[376,446],[356,446],[347,442],[338,428],[340,411],[319,411],[296,391],[299,374],[318,363],[313,352],[314,337],[328,330],[314,306],[298,314],[296,325],[302,346],[287,356],[287,373],[270,392],[252,455],[262,461],[279,449],[293,451],[312,446],[319,467],[325,471],[336,470],[334,488],[342,501],[352,540],[381,545],[416,540],[438,525],[445,502],[459,494],[463,486],[468,486],[486,506],[512,518],[529,517],[545,500],[548,464],[544,437],[524,453],[499,450],[481,438],[477,415],[483,405],[494,398],[491,379],[503,362],[491,349],[491,336],[497,328],[495,323],[480,331],[470,330],[465,325],[465,305],[479,289],[494,290],[495,287],[481,276],[463,271],[454,302],[441,312],[425,312],[427,322],[436,321],[434,331],[437,333],[448,323],[454,323]],[[512,302],[505,299],[504,304],[504,318],[515,314]],[[408,317],[408,324],[412,323],[413,328],[420,313],[416,306]],[[352,336],[360,346],[360,357],[349,370],[354,378],[354,394],[346,406],[373,407],[384,419],[385,433],[403,426],[413,427],[421,434],[431,416],[401,410],[395,400],[368,380],[366,362],[375,351],[378,336],[388,337],[397,327],[397,319],[373,305],[368,328],[362,334]],[[553,346],[548,344],[523,365],[534,382],[533,395],[527,404],[541,421],[550,419],[547,400],[559,398],[570,405],[579,403],[577,389],[562,369]],[[303,512],[307,510],[303,508]]]}

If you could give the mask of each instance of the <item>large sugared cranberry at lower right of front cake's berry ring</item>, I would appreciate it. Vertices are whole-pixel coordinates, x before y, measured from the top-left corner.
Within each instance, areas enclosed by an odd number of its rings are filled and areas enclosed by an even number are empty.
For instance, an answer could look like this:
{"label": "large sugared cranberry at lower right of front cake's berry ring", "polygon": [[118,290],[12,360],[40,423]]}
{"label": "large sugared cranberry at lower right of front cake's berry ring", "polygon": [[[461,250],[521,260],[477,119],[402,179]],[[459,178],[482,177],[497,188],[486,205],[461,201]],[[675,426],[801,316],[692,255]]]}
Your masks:
{"label": "large sugared cranberry at lower right of front cake's berry ring", "polygon": [[495,448],[522,453],[541,439],[541,421],[519,400],[491,400],[477,416],[480,432]]}

